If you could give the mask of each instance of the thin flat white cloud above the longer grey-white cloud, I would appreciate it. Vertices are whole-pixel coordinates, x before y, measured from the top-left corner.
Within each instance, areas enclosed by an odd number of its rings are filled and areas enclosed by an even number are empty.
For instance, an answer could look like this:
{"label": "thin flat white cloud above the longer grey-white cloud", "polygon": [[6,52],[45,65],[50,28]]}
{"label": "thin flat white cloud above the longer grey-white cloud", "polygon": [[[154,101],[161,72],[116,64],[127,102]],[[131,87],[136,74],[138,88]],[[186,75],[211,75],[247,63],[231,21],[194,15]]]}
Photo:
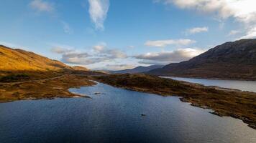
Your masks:
{"label": "thin flat white cloud above the longer grey-white cloud", "polygon": [[191,39],[167,39],[167,40],[146,41],[145,45],[164,47],[170,44],[173,44],[176,46],[186,46],[188,44],[193,44],[193,43],[196,43],[196,41],[193,41]]}

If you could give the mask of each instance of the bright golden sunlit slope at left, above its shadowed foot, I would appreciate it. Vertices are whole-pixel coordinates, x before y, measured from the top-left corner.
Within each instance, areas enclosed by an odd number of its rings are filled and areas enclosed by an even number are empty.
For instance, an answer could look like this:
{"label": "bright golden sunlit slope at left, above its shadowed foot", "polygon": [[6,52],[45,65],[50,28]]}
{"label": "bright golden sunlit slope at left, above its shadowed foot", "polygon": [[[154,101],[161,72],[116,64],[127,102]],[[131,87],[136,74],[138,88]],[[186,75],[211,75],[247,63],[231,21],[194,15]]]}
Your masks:
{"label": "bright golden sunlit slope at left, above its shadowed foot", "polygon": [[62,71],[70,67],[22,49],[0,46],[0,71]]}

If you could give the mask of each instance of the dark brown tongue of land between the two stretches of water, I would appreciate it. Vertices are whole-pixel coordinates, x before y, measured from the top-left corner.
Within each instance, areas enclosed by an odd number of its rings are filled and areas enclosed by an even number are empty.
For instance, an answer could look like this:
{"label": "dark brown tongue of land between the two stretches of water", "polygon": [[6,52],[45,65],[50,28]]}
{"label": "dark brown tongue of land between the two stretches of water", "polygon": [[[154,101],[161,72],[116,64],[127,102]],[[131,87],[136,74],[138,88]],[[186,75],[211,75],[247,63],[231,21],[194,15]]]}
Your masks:
{"label": "dark brown tongue of land between the two stretches of water", "polygon": [[183,102],[191,102],[193,106],[213,109],[214,114],[219,116],[242,119],[250,127],[256,129],[256,94],[253,92],[220,90],[146,74],[111,74],[94,77],[94,79],[138,92],[180,96]]}

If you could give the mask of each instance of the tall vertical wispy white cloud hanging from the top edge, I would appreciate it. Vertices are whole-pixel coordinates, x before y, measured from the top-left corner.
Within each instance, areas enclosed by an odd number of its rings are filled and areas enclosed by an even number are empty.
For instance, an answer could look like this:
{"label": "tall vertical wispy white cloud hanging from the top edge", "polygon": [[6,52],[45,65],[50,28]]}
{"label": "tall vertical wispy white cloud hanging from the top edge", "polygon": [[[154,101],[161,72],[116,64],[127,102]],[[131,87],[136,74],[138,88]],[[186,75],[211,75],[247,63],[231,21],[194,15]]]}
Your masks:
{"label": "tall vertical wispy white cloud hanging from the top edge", "polygon": [[89,14],[96,29],[104,29],[104,21],[109,11],[109,0],[88,0]]}

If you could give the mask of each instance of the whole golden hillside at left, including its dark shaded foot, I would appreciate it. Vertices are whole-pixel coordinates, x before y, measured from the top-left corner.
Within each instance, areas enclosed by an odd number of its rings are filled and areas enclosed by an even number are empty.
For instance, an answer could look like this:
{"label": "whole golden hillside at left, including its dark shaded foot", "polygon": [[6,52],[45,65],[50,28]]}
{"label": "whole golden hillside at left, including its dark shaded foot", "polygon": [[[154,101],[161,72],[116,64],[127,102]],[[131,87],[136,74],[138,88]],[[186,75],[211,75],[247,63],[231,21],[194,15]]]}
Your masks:
{"label": "whole golden hillside at left, including its dark shaded foot", "polygon": [[[60,74],[70,66],[30,51],[0,45],[0,77],[45,78]],[[9,77],[10,78],[10,77]]]}

